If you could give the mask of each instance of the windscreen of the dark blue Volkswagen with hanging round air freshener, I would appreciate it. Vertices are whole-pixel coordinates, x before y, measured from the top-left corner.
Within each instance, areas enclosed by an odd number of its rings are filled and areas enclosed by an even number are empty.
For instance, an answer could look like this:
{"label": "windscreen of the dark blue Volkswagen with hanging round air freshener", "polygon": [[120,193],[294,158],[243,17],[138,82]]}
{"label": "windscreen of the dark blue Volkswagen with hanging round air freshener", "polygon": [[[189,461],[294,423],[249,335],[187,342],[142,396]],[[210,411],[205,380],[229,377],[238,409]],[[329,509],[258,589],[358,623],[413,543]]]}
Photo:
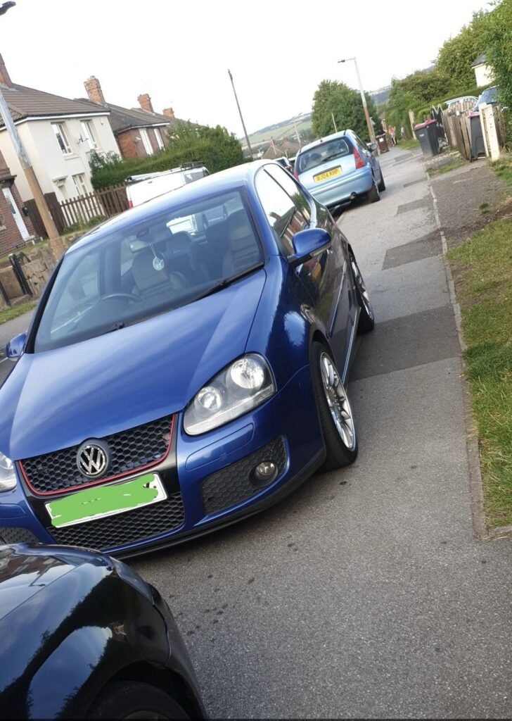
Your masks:
{"label": "windscreen of the dark blue Volkswagen with hanging round air freshener", "polygon": [[94,242],[63,258],[37,328],[36,353],[192,303],[264,260],[239,190],[92,236]]}

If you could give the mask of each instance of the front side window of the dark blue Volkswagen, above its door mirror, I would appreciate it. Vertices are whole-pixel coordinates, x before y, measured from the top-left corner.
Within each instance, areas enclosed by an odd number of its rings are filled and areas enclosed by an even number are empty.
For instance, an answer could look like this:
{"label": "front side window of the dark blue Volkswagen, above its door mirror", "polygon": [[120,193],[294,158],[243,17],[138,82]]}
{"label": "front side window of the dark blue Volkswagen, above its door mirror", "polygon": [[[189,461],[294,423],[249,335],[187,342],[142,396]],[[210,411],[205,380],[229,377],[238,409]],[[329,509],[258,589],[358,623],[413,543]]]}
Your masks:
{"label": "front side window of the dark blue Volkswagen, above its door mirror", "polygon": [[[293,185],[297,188],[295,183]],[[293,255],[292,238],[295,233],[307,227],[309,220],[297,208],[295,199],[290,198],[266,168],[261,169],[256,176],[256,192],[265,211],[266,219],[274,231],[279,249],[284,257]]]}

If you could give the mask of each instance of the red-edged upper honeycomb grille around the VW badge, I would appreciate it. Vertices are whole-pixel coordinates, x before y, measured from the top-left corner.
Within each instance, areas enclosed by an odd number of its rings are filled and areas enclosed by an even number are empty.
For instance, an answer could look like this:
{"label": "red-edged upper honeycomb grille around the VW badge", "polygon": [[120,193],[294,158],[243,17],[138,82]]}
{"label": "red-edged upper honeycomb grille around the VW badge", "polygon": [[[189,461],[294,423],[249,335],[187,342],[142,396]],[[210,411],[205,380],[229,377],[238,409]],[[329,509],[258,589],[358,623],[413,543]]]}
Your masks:
{"label": "red-edged upper honeycomb grille around the VW badge", "polygon": [[[107,472],[94,480],[99,481],[128,473],[160,460],[169,446],[171,421],[172,416],[167,416],[99,439],[109,445],[110,464]],[[83,476],[76,466],[76,453],[79,447],[71,446],[63,448],[62,451],[21,461],[20,465],[32,490],[48,493],[90,482],[90,479]]]}

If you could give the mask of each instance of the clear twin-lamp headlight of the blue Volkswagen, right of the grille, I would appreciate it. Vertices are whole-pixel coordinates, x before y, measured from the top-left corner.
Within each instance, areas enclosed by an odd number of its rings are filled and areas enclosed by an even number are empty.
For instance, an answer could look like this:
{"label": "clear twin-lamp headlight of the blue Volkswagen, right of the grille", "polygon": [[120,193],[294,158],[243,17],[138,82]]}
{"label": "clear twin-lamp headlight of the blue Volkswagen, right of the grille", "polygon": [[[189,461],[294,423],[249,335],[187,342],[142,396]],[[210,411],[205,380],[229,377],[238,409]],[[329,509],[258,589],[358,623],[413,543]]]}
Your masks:
{"label": "clear twin-lamp headlight of the blue Volkswagen, right of the grille", "polygon": [[204,386],[184,415],[185,432],[199,435],[228,423],[275,393],[270,368],[261,355],[238,358]]}

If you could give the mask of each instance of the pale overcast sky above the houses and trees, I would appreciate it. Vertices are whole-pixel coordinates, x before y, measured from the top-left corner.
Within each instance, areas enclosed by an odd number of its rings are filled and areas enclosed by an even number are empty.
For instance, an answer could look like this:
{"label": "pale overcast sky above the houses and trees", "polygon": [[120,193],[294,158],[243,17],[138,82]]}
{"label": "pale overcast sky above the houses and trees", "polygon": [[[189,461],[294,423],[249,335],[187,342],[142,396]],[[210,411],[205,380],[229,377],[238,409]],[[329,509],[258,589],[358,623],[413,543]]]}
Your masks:
{"label": "pale overcast sky above the houses and trees", "polygon": [[[1,2],[1,0],[0,0]],[[392,8],[391,10],[388,8]],[[15,83],[224,125],[242,136],[310,112],[323,79],[371,91],[426,68],[488,0],[17,0],[0,17],[0,53]]]}

